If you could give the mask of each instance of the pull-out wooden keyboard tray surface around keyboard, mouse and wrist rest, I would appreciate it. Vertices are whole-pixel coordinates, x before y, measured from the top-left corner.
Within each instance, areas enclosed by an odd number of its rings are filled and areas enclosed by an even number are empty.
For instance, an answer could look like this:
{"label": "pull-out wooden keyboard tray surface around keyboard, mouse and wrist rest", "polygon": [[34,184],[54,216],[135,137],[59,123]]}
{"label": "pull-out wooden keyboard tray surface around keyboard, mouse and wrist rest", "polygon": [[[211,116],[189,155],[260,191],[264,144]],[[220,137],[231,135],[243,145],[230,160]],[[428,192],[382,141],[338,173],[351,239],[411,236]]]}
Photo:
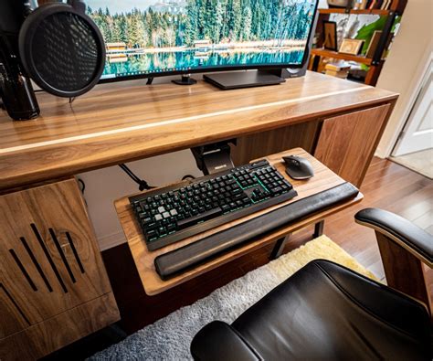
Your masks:
{"label": "pull-out wooden keyboard tray surface around keyboard, mouse and wrist rest", "polygon": [[[257,250],[260,247],[266,246],[270,242],[273,242],[276,239],[280,239],[282,236],[288,233],[291,233],[297,229],[303,228],[319,220],[322,220],[323,218],[326,218],[327,216],[335,212],[338,212],[339,210],[345,207],[349,207],[350,205],[361,201],[363,196],[359,194],[356,198],[354,198],[351,201],[345,202],[337,207],[333,207],[332,209],[319,212],[310,218],[304,218],[301,221],[296,222],[290,226],[280,228],[264,238],[256,239],[252,242],[249,242],[244,247],[241,247],[237,250],[232,250],[222,255],[221,257],[218,257],[216,260],[211,260],[206,264],[197,266],[195,269],[191,271],[185,271],[185,273],[178,275],[168,281],[162,281],[154,269],[153,260],[157,256],[164,254],[170,250],[176,250],[180,247],[185,246],[186,244],[195,242],[198,239],[205,238],[206,236],[209,236],[221,230],[230,228],[250,218],[257,217],[258,215],[264,214],[271,209],[282,207],[293,201],[299,200],[305,196],[312,196],[313,194],[321,192],[325,189],[329,189],[332,188],[333,186],[341,185],[344,182],[341,177],[335,175],[331,170],[329,170],[327,167],[322,165],[319,161],[314,159],[312,155],[307,154],[301,148],[297,148],[291,151],[286,151],[280,154],[273,154],[267,157],[269,162],[275,165],[282,175],[285,175],[285,172],[284,172],[284,165],[281,161],[281,157],[286,154],[297,154],[297,155],[305,156],[312,162],[312,166],[314,167],[315,176],[312,177],[311,179],[304,180],[304,181],[294,181],[290,179],[290,183],[298,192],[298,196],[280,205],[269,207],[269,209],[259,211],[254,215],[249,215],[245,218],[240,218],[236,221],[207,230],[206,232],[203,232],[199,235],[195,235],[188,239],[183,239],[179,242],[168,245],[160,250],[154,250],[154,251],[147,250],[144,243],[142,232],[135,221],[135,218],[132,213],[132,208],[129,205],[128,197],[123,197],[118,201],[116,201],[115,207],[121,221],[121,226],[125,233],[126,239],[128,240],[128,244],[132,252],[132,258],[135,262],[138,273],[140,274],[145,292],[149,295],[164,292],[165,290],[168,290],[182,282],[191,280],[192,278],[195,278],[196,276],[205,273],[206,271],[216,269],[217,267],[220,267],[221,265],[231,260],[235,260],[247,252]],[[285,176],[289,179],[288,175]]]}

